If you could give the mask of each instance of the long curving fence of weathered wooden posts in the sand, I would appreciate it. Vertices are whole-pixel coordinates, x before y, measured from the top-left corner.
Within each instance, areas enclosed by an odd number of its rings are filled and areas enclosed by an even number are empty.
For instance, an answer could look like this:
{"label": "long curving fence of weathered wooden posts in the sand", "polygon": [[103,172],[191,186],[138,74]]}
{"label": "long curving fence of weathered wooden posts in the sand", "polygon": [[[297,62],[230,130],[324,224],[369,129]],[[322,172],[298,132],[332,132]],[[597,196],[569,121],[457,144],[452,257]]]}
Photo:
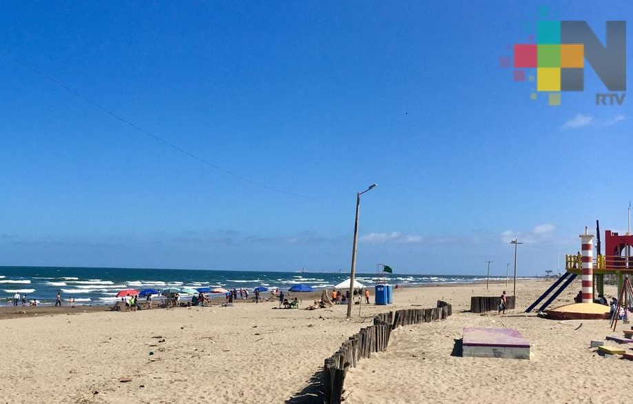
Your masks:
{"label": "long curving fence of weathered wooden posts in the sand", "polygon": [[384,352],[395,327],[443,320],[451,314],[452,306],[438,300],[437,307],[433,309],[397,310],[375,316],[373,325],[349,337],[338,351],[326,358],[323,381],[325,403],[340,404],[349,367],[356,367],[361,358],[370,358],[373,352]]}

